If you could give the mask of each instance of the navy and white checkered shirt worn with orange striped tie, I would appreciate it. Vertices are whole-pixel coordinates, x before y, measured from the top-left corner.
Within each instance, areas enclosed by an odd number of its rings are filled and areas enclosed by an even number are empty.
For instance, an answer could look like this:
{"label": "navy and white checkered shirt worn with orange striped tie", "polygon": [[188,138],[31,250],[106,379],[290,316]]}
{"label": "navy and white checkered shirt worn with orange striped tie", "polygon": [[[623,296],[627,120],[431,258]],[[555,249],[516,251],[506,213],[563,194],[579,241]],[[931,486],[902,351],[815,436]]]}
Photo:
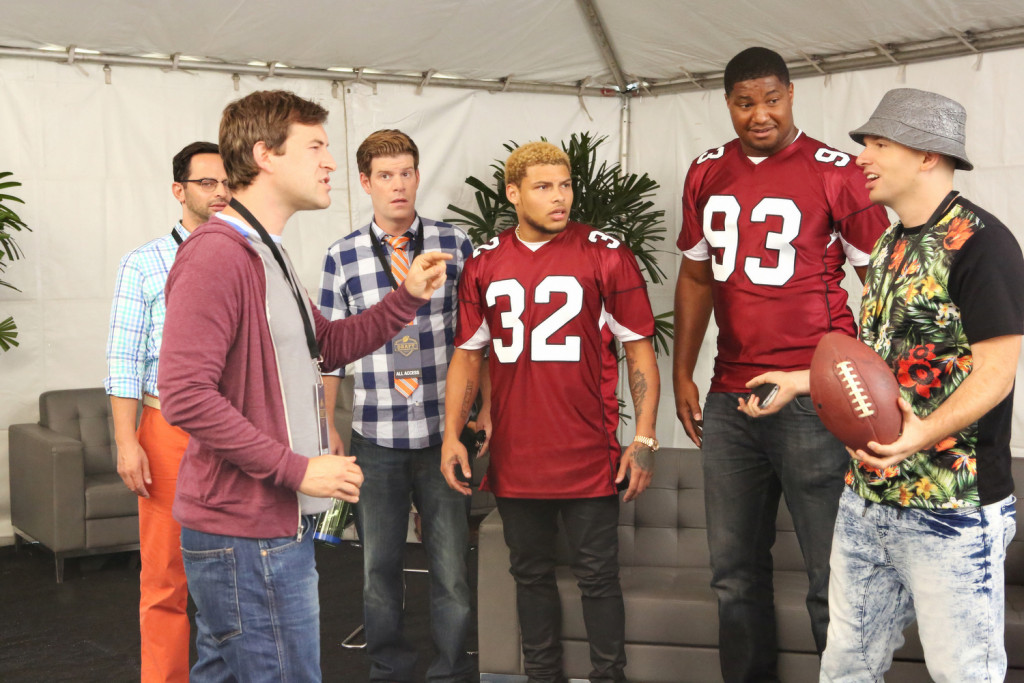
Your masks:
{"label": "navy and white checkered shirt worn with orange striped tie", "polygon": [[[391,283],[374,253],[371,223],[338,240],[324,259],[319,308],[328,319],[357,315],[383,299]],[[473,253],[466,233],[454,225],[418,218],[410,228],[413,237],[423,230],[423,251],[452,254],[447,280],[434,292],[429,304],[417,312],[421,390],[407,398],[394,388],[394,360],[388,341],[355,361],[355,397],[352,429],[378,445],[389,449],[425,449],[441,442],[444,426],[444,380],[452,358],[455,326],[459,314],[459,276]],[[414,244],[411,242],[410,245]],[[382,243],[385,261],[391,247]],[[341,373],[344,374],[344,371]]]}

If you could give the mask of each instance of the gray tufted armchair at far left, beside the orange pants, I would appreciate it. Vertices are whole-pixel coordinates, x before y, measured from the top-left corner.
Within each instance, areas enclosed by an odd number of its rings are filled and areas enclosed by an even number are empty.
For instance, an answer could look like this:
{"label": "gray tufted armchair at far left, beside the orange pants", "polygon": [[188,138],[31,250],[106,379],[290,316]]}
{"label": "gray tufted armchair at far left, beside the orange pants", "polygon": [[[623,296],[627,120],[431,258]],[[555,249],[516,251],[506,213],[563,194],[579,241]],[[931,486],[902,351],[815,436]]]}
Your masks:
{"label": "gray tufted armchair at far left, beside the orange pants", "polygon": [[111,401],[102,388],[47,391],[39,422],[11,425],[10,520],[14,543],[65,558],[138,549],[138,499],[117,472]]}

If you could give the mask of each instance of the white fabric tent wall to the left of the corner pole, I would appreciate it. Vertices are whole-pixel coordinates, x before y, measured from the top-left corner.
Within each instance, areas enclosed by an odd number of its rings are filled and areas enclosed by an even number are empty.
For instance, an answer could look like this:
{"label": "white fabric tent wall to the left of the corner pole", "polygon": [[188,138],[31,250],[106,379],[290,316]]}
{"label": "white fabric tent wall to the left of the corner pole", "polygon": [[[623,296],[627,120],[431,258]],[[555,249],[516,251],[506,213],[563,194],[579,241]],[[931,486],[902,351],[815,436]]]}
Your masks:
{"label": "white fabric tent wall to the left of the corner pole", "polygon": [[[22,292],[0,290],[0,318],[13,315],[20,346],[0,353],[0,543],[11,539],[7,427],[38,419],[38,396],[48,389],[100,386],[118,263],[125,252],[167,233],[180,217],[170,193],[171,158],[197,139],[216,141],[220,112],[248,92],[284,88],[330,110],[327,125],[338,161],[332,205],[296,215],[285,245],[307,290],[315,296],[327,247],[369,222],[370,200],[358,184],[355,147],[383,127],[401,128],[420,146],[421,212],[449,215],[446,206],[471,206],[463,180],[486,176],[508,139],[574,131],[609,135],[618,152],[615,98],[589,100],[594,120],[573,97],[366,85],[338,89],[324,81],[101,68],[28,59],[0,59],[0,170],[23,186],[22,218],[33,228],[17,240],[26,257],[4,280]],[[350,205],[351,203],[351,205]]]}

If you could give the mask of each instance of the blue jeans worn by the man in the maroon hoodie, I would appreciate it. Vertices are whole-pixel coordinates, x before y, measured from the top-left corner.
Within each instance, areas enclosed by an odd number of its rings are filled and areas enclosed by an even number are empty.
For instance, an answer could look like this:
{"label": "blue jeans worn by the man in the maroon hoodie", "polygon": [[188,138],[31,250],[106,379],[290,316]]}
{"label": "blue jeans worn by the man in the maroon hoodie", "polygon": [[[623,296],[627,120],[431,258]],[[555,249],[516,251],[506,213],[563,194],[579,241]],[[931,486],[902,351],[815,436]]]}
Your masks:
{"label": "blue jeans worn by the man in the maroon hoodie", "polygon": [[312,517],[296,536],[243,539],[181,527],[196,601],[193,683],[321,680]]}

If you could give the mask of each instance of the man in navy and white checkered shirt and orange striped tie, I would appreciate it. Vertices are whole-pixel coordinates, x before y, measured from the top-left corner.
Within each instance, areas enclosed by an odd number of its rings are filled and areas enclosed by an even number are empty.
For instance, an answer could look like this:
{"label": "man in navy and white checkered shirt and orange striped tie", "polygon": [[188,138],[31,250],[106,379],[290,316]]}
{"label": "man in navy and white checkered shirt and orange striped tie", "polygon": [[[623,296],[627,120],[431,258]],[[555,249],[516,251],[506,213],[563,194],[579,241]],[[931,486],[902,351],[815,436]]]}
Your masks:
{"label": "man in navy and white checkered shirt and orange striped tie", "polygon": [[[429,557],[430,622],[437,657],[430,681],[477,680],[466,653],[470,625],[464,496],[440,472],[444,379],[458,318],[459,275],[472,254],[459,228],[416,213],[419,150],[398,130],[379,130],[356,152],[359,182],[374,219],[328,250],[321,310],[330,319],[357,315],[401,282],[416,254],[452,254],[444,287],[415,321],[355,362],[351,453],[362,469],[358,523],[364,543],[364,612],[371,681],[413,681],[416,647],[402,633],[402,578],[410,501],[423,521]],[[334,415],[340,377],[325,376],[328,415]],[[341,439],[331,421],[331,445]]]}

